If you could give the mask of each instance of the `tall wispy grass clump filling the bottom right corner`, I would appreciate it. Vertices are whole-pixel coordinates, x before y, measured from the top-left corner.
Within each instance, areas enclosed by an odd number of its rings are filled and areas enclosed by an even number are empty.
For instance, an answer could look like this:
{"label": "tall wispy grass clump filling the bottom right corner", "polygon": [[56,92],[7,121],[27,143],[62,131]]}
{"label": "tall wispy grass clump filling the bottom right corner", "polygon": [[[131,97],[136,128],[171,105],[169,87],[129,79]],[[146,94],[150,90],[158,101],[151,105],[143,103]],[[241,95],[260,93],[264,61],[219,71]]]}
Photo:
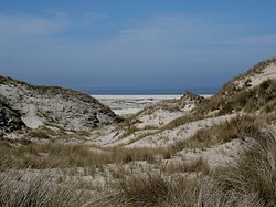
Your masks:
{"label": "tall wispy grass clump filling the bottom right corner", "polygon": [[259,135],[203,189],[206,206],[275,206],[276,139]]}

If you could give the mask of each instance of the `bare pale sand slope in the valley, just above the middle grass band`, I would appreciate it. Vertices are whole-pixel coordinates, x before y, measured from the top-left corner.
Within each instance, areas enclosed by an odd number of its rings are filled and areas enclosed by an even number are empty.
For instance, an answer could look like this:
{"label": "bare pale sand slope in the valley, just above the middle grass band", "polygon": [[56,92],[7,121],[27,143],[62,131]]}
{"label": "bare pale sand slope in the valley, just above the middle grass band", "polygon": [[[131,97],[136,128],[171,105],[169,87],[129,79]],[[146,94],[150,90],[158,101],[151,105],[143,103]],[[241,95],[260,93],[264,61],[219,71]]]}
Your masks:
{"label": "bare pale sand slope in the valley, just above the middle grass band", "polygon": [[[126,131],[117,127],[104,127],[95,131],[87,139],[89,144],[96,146],[124,146],[127,148],[136,147],[166,147],[180,141],[190,138],[194,133],[202,128],[209,128],[214,124],[229,121],[236,114],[224,115],[213,118],[205,118],[190,122],[172,130],[138,130],[137,132],[124,136]],[[157,117],[158,118],[158,117]]]}

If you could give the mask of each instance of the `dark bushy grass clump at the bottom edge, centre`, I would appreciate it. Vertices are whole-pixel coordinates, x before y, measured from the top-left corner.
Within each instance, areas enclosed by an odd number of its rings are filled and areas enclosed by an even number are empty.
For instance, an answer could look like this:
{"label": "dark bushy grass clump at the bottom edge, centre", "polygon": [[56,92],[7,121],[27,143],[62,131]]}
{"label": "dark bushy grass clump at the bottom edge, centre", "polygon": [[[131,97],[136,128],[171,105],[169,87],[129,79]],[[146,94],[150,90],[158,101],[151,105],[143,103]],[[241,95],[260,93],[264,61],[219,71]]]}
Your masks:
{"label": "dark bushy grass clump at the bottom edge, centre", "polygon": [[194,206],[200,182],[184,177],[167,179],[160,174],[148,173],[121,180],[116,189],[118,193],[110,200],[118,206]]}

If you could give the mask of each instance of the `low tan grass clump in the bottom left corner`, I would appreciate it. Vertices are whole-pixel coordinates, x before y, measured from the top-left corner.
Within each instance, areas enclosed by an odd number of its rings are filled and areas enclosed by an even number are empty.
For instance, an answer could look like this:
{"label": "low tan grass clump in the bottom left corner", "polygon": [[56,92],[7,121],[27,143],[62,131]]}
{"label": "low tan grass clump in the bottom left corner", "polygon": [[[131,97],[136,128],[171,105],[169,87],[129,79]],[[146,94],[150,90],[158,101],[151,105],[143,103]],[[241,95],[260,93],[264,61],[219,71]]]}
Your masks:
{"label": "low tan grass clump in the bottom left corner", "polygon": [[92,195],[77,188],[77,185],[59,186],[47,174],[31,177],[14,172],[0,174],[0,206],[68,206],[89,204]]}

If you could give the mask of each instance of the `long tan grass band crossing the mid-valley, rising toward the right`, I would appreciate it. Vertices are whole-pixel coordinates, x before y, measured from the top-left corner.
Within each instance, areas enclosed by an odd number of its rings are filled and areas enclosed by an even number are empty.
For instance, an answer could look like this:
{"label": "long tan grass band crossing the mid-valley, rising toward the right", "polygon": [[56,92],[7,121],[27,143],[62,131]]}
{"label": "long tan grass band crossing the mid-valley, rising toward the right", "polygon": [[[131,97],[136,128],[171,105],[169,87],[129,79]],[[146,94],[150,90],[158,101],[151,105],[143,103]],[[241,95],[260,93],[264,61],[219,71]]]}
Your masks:
{"label": "long tan grass band crossing the mid-valley, rising toward the right", "polygon": [[[106,164],[126,164],[136,161],[156,163],[168,159],[176,153],[189,148],[213,147],[235,138],[257,136],[258,120],[255,116],[243,115],[231,121],[215,124],[210,128],[198,131],[189,139],[184,139],[167,147],[110,147],[99,149],[81,144],[47,144],[25,143],[11,146],[8,142],[0,142],[0,166],[18,168],[72,168],[87,167],[92,172]],[[38,133],[35,133],[36,135]]]}

